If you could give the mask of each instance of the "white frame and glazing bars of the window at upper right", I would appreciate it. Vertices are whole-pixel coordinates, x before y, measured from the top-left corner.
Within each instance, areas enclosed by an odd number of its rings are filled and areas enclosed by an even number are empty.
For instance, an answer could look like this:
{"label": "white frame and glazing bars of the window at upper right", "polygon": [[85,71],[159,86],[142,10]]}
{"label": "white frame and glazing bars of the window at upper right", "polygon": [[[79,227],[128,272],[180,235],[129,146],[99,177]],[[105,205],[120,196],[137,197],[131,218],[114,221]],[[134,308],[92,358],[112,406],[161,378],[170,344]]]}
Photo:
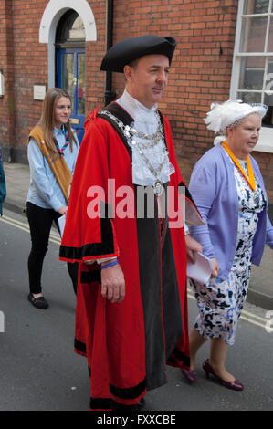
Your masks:
{"label": "white frame and glazing bars of the window at upper right", "polygon": [[[232,67],[232,74],[231,74],[231,82],[230,82],[230,99],[237,99],[237,90],[239,85],[239,76],[240,76],[240,66],[241,66],[241,58],[242,57],[273,57],[273,52],[247,52],[247,53],[240,53],[239,47],[240,47],[240,37],[241,37],[241,30],[242,30],[242,15],[244,10],[244,1],[245,0],[239,0],[238,2],[238,11],[237,11],[237,22],[236,22],[236,39],[235,39],[235,46],[234,46],[234,55],[233,55],[233,67]],[[269,9],[270,16],[272,16],[273,19],[273,0],[269,0],[269,6],[271,5],[271,9]],[[247,15],[246,15],[247,16]],[[253,15],[248,15],[247,17],[251,17]],[[255,15],[257,16],[257,15]],[[258,16],[268,16],[267,14],[258,14]],[[268,38],[268,32],[266,37]],[[266,74],[265,74],[265,78]],[[240,91],[241,92],[241,91]],[[252,91],[251,91],[252,92]],[[253,91],[255,92],[255,91]],[[260,91],[258,91],[260,92]],[[273,153],[273,127],[262,127],[261,131],[259,133],[259,140],[257,142],[257,145],[254,149],[257,152],[270,152]]]}

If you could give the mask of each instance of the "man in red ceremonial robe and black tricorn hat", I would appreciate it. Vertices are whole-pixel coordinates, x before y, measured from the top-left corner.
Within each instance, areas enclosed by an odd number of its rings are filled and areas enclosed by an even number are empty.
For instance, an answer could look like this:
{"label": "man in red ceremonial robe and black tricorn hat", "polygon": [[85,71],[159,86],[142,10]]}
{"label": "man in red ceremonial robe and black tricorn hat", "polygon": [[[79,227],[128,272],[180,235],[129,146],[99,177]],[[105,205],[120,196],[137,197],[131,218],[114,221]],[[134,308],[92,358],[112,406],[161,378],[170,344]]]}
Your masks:
{"label": "man in red ceremonial robe and black tricorn hat", "polygon": [[203,223],[176,162],[170,124],[156,109],[173,37],[111,47],[101,69],[123,72],[120,99],[85,124],[60,259],[79,262],[75,351],[86,356],[91,410],[138,409],[167,382],[166,364],[189,369],[184,235]]}

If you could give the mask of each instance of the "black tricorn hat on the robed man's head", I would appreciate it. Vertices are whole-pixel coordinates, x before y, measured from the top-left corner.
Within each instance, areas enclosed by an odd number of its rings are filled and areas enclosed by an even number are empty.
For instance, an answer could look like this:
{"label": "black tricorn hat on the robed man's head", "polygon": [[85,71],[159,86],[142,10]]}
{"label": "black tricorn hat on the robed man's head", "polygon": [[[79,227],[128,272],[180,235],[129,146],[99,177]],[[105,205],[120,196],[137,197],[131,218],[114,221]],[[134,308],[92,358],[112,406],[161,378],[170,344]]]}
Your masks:
{"label": "black tricorn hat on the robed man's head", "polygon": [[171,64],[175,47],[176,40],[173,37],[146,35],[126,38],[110,47],[102,59],[100,70],[123,73],[126,64],[152,54],[165,55]]}

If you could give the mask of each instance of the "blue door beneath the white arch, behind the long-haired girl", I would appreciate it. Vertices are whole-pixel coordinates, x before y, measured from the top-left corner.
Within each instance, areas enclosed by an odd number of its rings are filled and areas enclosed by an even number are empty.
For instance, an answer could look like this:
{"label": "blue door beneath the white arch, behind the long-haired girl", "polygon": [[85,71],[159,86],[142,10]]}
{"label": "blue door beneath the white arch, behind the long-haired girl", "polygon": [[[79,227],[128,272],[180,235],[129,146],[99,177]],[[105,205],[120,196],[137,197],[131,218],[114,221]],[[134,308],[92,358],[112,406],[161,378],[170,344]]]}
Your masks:
{"label": "blue door beneath the white arch, behind the long-haired girl", "polygon": [[57,86],[65,89],[71,97],[70,122],[81,143],[85,120],[85,51],[80,48],[58,49],[57,61]]}

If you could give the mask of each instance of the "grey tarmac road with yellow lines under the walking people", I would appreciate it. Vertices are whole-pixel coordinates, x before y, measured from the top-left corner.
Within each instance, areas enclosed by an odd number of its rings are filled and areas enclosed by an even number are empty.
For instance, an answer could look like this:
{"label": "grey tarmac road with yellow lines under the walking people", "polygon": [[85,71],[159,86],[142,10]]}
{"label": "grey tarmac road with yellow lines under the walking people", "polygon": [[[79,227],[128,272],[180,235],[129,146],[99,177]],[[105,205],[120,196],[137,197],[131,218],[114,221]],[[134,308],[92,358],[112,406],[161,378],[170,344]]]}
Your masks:
{"label": "grey tarmac road with yellow lines under the walking people", "polygon": [[[58,261],[58,246],[58,233],[53,229],[43,270],[50,307],[35,309],[26,299],[30,249],[26,216],[5,210],[0,218],[0,411],[89,410],[87,362],[73,351],[76,298],[66,264]],[[190,325],[195,314],[190,291]],[[169,367],[169,382],[147,393],[145,410],[272,410],[272,331],[273,312],[247,304],[236,344],[226,359],[227,369],[245,384],[243,392],[205,379],[201,368],[208,357],[205,344],[194,385]]]}

